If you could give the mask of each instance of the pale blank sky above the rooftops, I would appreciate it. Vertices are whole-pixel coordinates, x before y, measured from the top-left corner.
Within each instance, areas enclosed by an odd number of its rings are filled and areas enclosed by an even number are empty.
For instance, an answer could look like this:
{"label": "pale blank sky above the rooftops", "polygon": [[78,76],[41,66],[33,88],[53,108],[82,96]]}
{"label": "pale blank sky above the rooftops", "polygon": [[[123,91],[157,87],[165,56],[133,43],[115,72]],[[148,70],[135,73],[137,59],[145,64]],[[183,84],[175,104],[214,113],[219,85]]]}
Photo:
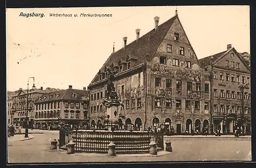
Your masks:
{"label": "pale blank sky above the rooftops", "polygon": [[[248,6],[177,7],[198,59],[232,44],[250,53]],[[113,50],[154,29],[175,15],[176,7],[7,9],[7,90],[27,89],[30,76],[40,88],[87,87]],[[22,17],[44,13],[45,17]],[[112,14],[112,17],[50,17],[58,14]],[[30,87],[33,80],[29,81]]]}

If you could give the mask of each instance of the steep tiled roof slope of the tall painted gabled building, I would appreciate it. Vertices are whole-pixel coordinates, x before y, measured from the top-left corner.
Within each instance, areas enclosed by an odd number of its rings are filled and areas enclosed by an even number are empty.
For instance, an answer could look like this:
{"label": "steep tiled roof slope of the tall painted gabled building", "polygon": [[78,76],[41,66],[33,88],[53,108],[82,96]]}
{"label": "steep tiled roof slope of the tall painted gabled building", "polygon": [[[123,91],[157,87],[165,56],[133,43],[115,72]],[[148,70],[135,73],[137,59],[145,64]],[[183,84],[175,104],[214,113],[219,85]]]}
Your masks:
{"label": "steep tiled roof slope of the tall painted gabled building", "polygon": [[[156,30],[153,29],[145,35],[141,36],[138,41],[135,40],[126,45],[124,48],[121,48],[118,51],[112,53],[103,64],[101,71],[105,67],[108,68],[112,63],[117,64],[120,60],[126,60],[129,58],[136,59],[134,66],[144,63],[147,58],[147,54],[149,58],[151,58],[155,53],[176,18],[177,16],[170,18],[169,20],[160,24]],[[96,81],[96,76],[90,85]]]}

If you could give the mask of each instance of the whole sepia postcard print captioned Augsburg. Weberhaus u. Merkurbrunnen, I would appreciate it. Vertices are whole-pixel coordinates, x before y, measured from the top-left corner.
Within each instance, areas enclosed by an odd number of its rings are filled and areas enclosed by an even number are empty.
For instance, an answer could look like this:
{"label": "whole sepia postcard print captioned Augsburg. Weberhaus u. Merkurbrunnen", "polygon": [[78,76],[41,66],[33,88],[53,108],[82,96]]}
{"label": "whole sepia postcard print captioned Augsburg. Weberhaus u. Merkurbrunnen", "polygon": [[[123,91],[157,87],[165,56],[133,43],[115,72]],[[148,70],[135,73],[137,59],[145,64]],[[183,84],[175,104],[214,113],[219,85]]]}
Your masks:
{"label": "whole sepia postcard print captioned Augsburg. Weberhaus u. Merkurbrunnen", "polygon": [[249,6],[6,9],[8,164],[251,161]]}

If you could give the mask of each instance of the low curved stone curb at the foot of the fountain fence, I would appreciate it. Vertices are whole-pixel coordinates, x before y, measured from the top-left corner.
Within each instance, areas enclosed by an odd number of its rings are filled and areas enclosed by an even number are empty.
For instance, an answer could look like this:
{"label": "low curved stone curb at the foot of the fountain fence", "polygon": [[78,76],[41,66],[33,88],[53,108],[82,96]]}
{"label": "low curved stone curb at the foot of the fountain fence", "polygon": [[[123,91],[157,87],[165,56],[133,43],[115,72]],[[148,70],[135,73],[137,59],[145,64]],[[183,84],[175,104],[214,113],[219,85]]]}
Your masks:
{"label": "low curved stone curb at the foot of the fountain fence", "polygon": [[173,152],[158,152],[158,153],[162,153],[162,154],[157,154],[157,155],[151,155],[148,153],[144,153],[144,154],[117,154],[116,156],[108,156],[107,154],[97,154],[97,153],[83,153],[83,152],[79,152],[79,153],[74,153],[74,154],[67,154],[66,150],[62,150],[62,149],[56,149],[56,150],[51,150],[50,152],[59,152],[60,154],[66,154],[66,155],[73,155],[73,156],[93,156],[93,157],[158,157],[158,156],[163,156],[163,155],[167,155]]}

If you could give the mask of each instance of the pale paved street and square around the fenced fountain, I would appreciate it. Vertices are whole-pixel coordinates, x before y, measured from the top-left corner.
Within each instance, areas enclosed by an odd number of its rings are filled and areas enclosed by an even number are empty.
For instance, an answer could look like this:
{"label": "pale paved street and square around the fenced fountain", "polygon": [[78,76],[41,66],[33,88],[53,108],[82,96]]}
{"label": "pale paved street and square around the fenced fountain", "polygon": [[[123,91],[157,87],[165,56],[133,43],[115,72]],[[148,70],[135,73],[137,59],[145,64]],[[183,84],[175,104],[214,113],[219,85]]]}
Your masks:
{"label": "pale paved street and square around the fenced fountain", "polygon": [[96,157],[63,154],[49,151],[51,139],[57,131],[32,134],[33,139],[11,142],[8,146],[9,162],[110,162],[110,161],[203,161],[247,160],[251,151],[249,138],[172,138],[173,152],[148,157]]}

